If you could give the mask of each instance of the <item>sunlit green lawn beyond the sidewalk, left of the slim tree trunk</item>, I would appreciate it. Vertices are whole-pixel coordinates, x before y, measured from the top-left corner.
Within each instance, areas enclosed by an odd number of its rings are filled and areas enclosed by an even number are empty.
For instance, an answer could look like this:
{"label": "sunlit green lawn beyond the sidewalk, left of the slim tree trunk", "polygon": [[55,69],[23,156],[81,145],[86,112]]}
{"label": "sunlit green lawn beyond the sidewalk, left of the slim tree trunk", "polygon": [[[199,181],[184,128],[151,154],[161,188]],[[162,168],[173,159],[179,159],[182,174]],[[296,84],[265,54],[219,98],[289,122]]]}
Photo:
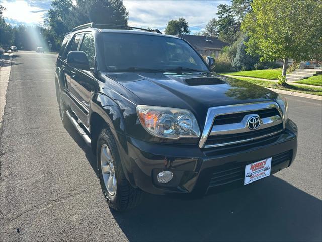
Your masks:
{"label": "sunlit green lawn beyond the sidewalk, left of the slim tree trunk", "polygon": [[265,69],[265,70],[253,70],[253,71],[241,71],[241,72],[229,72],[220,73],[221,75],[234,75],[241,77],[257,77],[264,79],[278,79],[278,76],[282,74],[282,68]]}

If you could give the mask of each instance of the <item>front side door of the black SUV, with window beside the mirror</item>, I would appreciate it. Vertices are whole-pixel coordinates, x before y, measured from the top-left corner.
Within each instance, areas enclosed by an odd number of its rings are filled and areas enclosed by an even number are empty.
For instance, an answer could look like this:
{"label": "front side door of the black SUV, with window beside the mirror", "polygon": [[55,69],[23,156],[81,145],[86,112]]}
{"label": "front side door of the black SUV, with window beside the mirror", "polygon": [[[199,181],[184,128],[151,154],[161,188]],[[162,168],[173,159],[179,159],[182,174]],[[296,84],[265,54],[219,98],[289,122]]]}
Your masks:
{"label": "front side door of the black SUV, with window beside the mirror", "polygon": [[81,122],[88,127],[87,117],[90,100],[98,86],[93,74],[95,68],[95,43],[92,33],[85,32],[81,45],[79,46],[79,51],[83,51],[86,54],[89,60],[90,69],[73,69],[71,75],[71,90],[76,99],[73,110]]}

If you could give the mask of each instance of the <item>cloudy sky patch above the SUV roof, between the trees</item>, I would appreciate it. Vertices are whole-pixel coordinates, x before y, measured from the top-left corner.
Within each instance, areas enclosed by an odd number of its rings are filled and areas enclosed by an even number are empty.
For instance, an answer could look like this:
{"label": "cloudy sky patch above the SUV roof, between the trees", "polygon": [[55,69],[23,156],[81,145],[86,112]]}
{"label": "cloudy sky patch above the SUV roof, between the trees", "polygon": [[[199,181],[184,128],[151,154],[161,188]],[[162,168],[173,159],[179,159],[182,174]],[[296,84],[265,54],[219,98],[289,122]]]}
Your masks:
{"label": "cloudy sky patch above the SUV roof, between the trees", "polygon": [[164,30],[168,21],[183,17],[192,32],[198,32],[216,16],[219,4],[230,4],[229,0],[219,1],[123,1],[129,11],[129,25]]}

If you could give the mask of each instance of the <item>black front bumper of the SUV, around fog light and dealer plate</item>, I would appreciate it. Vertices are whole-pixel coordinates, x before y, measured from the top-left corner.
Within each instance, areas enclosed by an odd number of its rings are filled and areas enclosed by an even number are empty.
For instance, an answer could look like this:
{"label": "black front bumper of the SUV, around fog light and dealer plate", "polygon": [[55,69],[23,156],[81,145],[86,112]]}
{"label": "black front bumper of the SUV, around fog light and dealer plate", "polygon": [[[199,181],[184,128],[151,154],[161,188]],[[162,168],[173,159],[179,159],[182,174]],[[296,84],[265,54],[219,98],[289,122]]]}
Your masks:
{"label": "black front bumper of the SUV, around fog light and dealer plate", "polygon": [[[272,157],[271,174],[290,166],[297,151],[297,126],[288,120],[286,129],[274,137],[218,148],[127,140],[127,177],[134,187],[153,194],[205,194],[209,189],[243,186],[245,166],[265,158]],[[164,185],[156,180],[163,170],[174,173]]]}

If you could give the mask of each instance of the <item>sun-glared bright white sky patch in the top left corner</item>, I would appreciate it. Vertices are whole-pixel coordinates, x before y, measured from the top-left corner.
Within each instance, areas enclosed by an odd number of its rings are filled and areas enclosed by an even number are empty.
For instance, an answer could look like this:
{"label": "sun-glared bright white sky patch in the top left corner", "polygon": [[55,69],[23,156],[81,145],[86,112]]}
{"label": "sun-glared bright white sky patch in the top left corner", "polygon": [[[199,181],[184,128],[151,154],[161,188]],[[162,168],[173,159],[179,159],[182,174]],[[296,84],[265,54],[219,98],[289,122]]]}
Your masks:
{"label": "sun-glared bright white sky patch in the top left corner", "polygon": [[37,6],[31,6],[26,0],[4,0],[2,5],[6,8],[3,15],[9,22],[43,24],[44,14],[47,12]]}

